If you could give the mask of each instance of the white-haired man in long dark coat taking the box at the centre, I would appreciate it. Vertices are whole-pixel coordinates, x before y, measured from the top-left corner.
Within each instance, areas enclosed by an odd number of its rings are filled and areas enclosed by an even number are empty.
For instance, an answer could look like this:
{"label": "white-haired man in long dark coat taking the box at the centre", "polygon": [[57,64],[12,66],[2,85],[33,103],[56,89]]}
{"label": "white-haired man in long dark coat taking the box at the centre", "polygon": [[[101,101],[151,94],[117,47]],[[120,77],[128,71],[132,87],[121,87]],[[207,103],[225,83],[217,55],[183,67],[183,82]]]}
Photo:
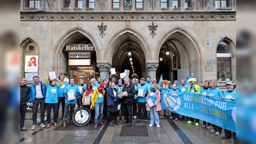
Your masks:
{"label": "white-haired man in long dark coat taking the box at the centre", "polygon": [[123,124],[129,123],[128,127],[132,126],[132,104],[134,101],[135,95],[135,87],[132,83],[130,83],[130,79],[128,77],[124,78],[124,88],[123,91],[126,91],[127,94],[123,97],[124,100],[124,116],[126,118]]}

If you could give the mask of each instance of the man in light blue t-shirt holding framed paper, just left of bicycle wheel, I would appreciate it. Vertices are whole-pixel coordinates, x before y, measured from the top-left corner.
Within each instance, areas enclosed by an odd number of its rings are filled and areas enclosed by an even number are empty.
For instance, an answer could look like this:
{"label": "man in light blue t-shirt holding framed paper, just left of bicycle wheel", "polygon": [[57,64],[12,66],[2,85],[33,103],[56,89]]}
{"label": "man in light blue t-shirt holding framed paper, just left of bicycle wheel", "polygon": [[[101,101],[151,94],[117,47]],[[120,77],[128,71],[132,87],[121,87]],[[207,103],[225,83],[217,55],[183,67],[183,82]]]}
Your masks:
{"label": "man in light blue t-shirt holding framed paper, just left of bicycle wheel", "polygon": [[[69,115],[69,122],[73,124],[74,122],[72,121],[72,114],[74,113],[75,106],[76,106],[76,98],[80,95],[79,88],[75,84],[75,80],[72,78],[69,80],[70,84],[66,86],[63,95],[65,96],[65,110],[64,110],[64,116],[63,116],[63,128],[67,127],[67,114],[68,114],[68,109],[70,107],[70,115]],[[74,92],[75,100],[69,100],[67,93],[68,92]]]}

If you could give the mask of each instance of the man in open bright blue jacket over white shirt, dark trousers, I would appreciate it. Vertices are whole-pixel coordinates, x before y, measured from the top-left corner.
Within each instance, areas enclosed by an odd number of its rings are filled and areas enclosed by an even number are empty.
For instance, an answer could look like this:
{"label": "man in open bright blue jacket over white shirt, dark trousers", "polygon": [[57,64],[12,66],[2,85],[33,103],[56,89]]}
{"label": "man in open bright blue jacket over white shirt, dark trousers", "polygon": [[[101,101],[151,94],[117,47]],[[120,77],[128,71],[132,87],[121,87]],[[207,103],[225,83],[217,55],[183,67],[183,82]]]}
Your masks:
{"label": "man in open bright blue jacket over white shirt, dark trousers", "polygon": [[38,76],[33,77],[34,84],[30,85],[30,93],[29,93],[29,99],[30,99],[30,105],[33,107],[33,126],[31,130],[34,130],[36,128],[36,118],[37,118],[37,108],[40,104],[41,108],[41,116],[40,116],[40,126],[45,127],[43,124],[44,122],[44,111],[45,111],[45,94],[46,94],[46,85],[43,82],[40,82],[40,79]]}

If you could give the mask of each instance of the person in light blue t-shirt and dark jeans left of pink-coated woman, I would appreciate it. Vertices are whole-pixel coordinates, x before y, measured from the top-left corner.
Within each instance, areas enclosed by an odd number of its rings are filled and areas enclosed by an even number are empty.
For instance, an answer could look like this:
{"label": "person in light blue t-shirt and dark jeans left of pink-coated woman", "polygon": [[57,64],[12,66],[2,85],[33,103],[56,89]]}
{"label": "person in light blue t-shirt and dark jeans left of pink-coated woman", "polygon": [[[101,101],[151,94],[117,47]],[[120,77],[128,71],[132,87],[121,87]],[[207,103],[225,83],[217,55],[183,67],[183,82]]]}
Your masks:
{"label": "person in light blue t-shirt and dark jeans left of pink-coated woman", "polygon": [[[152,84],[151,84],[152,86]],[[138,97],[138,91],[139,89],[144,89],[144,95],[141,97],[139,96]],[[148,124],[148,112],[147,112],[147,109],[146,109],[146,98],[147,98],[147,95],[148,95],[148,84],[145,84],[145,79],[144,78],[141,78],[140,79],[140,85],[137,85],[137,88],[136,88],[136,95],[137,95],[137,98],[138,98],[138,120],[137,120],[137,124],[141,122],[141,108],[143,108],[144,110],[144,120],[145,120],[145,124]]]}

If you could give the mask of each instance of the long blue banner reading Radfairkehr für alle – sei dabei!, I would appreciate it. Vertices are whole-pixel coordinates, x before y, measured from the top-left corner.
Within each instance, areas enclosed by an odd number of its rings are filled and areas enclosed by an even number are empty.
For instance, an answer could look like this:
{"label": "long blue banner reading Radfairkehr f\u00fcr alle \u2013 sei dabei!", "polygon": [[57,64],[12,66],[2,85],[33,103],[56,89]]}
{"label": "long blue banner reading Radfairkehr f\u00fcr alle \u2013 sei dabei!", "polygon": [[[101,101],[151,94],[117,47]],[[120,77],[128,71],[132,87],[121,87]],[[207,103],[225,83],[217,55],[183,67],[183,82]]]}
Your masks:
{"label": "long blue banner reading Radfairkehr f\u00fcr alle \u2013 sei dabei!", "polygon": [[236,132],[235,100],[208,97],[193,92],[166,92],[161,95],[161,107]]}

